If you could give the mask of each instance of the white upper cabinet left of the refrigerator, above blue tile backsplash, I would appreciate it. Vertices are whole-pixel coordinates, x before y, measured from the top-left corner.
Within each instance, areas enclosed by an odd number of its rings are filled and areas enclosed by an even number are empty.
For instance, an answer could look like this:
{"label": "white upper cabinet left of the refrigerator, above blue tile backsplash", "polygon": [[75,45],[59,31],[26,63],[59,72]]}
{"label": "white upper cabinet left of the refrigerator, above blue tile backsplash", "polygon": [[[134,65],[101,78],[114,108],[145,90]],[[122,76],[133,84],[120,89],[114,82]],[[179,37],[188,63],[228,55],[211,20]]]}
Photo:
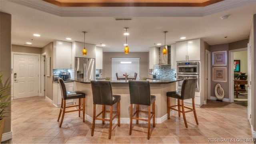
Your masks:
{"label": "white upper cabinet left of the refrigerator, above blue tile backsplash", "polygon": [[70,69],[72,43],[55,40],[53,42],[53,69]]}

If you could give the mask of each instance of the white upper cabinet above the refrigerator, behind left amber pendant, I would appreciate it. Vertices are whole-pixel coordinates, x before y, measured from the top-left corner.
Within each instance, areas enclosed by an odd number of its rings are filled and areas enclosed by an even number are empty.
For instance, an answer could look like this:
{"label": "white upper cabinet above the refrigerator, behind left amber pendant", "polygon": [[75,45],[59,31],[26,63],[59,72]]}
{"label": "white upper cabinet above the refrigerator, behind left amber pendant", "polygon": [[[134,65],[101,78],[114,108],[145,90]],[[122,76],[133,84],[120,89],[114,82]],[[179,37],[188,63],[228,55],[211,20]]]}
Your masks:
{"label": "white upper cabinet above the refrigerator, behind left amber pendant", "polygon": [[96,45],[94,44],[85,44],[87,54],[84,56],[82,50],[84,48],[84,43],[82,42],[73,42],[73,49],[75,57],[80,58],[96,58]]}

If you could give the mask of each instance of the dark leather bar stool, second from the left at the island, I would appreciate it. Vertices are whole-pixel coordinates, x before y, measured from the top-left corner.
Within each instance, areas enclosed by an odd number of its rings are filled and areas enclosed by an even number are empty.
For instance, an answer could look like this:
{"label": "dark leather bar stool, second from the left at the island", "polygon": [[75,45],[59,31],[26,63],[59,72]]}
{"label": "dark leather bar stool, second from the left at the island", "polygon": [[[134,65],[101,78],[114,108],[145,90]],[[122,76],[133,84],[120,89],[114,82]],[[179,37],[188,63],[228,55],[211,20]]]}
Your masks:
{"label": "dark leather bar stool, second from the left at the island", "polygon": [[[118,126],[120,126],[120,95],[112,94],[112,86],[110,81],[91,81],[92,85],[92,98],[93,98],[93,122],[92,122],[92,136],[94,134],[95,120],[102,120],[110,122],[108,139],[111,138],[112,120],[118,117]],[[113,111],[112,106],[117,103],[117,111]],[[96,104],[102,105],[102,111],[96,116]],[[105,106],[110,106],[110,110],[106,110]],[[105,112],[110,112],[110,118],[105,118]],[[112,113],[116,113],[113,116]],[[98,118],[102,114],[102,118]]]}

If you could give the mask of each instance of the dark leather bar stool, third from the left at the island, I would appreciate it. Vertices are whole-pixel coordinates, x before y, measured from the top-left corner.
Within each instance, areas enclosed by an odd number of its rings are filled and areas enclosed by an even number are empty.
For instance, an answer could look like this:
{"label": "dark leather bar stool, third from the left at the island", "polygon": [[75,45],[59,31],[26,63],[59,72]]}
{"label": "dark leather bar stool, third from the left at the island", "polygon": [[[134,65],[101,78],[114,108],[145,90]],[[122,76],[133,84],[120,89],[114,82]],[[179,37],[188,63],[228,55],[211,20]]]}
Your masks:
{"label": "dark leather bar stool, third from the left at the island", "polygon": [[[148,122],[148,140],[150,139],[150,120],[153,118],[153,127],[155,123],[155,101],[156,96],[150,95],[150,84],[149,81],[135,81],[129,80],[130,89],[130,132],[132,134],[132,119],[139,123],[139,120]],[[136,112],[133,113],[133,104],[136,104]],[[150,105],[152,104],[152,112],[150,112]],[[140,110],[139,105],[148,106],[148,111]],[[148,119],[139,118],[139,112],[148,113]],[[134,117],[136,114],[136,117]],[[151,115],[152,114],[152,115]]]}

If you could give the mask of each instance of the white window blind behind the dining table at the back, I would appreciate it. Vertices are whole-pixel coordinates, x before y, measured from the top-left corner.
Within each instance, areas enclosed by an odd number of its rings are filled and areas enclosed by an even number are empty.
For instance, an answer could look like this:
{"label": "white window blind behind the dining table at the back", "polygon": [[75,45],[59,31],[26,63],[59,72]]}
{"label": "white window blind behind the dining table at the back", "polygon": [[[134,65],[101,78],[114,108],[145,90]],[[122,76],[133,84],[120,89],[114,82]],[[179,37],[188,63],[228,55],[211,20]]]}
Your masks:
{"label": "white window blind behind the dining table at the back", "polygon": [[137,73],[136,80],[140,79],[140,58],[112,58],[112,80],[118,76],[127,73],[129,76],[134,76]]}

